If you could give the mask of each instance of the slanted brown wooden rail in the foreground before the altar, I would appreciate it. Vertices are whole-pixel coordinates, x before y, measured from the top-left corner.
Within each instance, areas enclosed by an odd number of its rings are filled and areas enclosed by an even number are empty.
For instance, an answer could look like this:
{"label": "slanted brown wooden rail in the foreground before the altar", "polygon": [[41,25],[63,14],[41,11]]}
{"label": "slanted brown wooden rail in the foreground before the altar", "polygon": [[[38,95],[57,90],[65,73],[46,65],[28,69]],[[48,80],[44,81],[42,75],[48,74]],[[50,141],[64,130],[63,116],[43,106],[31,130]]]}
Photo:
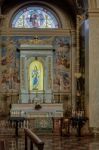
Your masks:
{"label": "slanted brown wooden rail in the foreground before the altar", "polygon": [[33,144],[38,148],[38,150],[44,149],[44,142],[41,141],[41,139],[33,132],[31,132],[30,129],[24,128],[25,132],[25,150],[28,150],[27,140],[30,139],[30,150],[33,150]]}

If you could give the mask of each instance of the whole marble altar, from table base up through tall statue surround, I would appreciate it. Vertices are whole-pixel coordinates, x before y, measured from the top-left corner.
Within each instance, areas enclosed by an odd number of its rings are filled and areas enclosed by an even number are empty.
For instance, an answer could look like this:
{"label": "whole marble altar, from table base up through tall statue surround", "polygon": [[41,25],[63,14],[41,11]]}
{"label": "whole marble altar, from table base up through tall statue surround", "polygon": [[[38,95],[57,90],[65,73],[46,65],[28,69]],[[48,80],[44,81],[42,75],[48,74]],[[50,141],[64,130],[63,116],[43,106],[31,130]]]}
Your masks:
{"label": "whole marble altar, from table base up through tall statue surround", "polygon": [[63,117],[63,104],[55,102],[53,92],[53,38],[20,41],[19,51],[20,93],[10,116],[24,117],[33,130],[53,132]]}

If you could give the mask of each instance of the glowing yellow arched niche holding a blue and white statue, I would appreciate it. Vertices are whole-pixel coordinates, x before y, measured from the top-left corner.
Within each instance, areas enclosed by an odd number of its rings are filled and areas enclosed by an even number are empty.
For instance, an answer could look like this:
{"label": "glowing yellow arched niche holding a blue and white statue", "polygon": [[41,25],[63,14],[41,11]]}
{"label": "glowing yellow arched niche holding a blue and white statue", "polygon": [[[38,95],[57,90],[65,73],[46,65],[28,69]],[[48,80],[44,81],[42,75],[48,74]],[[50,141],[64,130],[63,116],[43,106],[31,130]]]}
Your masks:
{"label": "glowing yellow arched niche holding a blue and white statue", "polygon": [[43,65],[35,60],[29,67],[30,91],[43,90]]}

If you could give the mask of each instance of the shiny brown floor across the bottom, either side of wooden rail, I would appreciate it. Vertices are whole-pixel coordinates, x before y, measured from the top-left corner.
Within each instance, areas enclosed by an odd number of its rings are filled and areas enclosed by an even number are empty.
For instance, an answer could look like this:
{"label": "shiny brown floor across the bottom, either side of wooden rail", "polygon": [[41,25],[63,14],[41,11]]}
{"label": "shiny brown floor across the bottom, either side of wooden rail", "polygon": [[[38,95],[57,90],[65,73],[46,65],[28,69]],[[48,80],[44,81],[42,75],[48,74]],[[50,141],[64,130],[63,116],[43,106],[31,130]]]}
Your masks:
{"label": "shiny brown floor across the bottom, either side of wooden rail", "polygon": [[[99,137],[76,137],[76,136],[53,136],[39,135],[44,141],[44,150],[99,150]],[[6,141],[7,150],[24,150],[24,136],[13,138],[10,136],[3,137]],[[34,150],[37,148],[34,147]]]}

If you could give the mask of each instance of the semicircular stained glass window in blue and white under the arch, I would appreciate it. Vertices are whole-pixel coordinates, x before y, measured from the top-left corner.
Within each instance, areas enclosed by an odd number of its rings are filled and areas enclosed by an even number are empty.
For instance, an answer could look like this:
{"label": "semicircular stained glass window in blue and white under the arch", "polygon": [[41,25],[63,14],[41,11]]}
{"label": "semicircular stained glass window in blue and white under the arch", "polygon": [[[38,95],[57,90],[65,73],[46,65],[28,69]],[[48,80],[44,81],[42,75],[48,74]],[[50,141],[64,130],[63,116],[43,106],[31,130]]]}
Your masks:
{"label": "semicircular stained glass window in blue and white under the arch", "polygon": [[39,6],[25,7],[13,18],[13,28],[59,28],[55,15]]}

